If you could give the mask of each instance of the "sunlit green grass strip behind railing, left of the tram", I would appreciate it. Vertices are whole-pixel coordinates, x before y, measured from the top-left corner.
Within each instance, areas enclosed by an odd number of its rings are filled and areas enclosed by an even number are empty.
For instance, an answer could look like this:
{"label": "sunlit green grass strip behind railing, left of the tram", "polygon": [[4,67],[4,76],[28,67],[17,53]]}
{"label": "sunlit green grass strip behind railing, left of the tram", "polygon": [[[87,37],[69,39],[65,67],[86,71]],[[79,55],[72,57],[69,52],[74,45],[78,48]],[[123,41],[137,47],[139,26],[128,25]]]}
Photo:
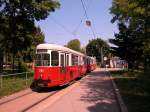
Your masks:
{"label": "sunlit green grass strip behind railing, left of the tram", "polygon": [[10,95],[17,91],[30,87],[30,84],[33,80],[33,73],[28,73],[27,76],[27,81],[25,74],[3,77],[2,88],[0,87],[0,97]]}

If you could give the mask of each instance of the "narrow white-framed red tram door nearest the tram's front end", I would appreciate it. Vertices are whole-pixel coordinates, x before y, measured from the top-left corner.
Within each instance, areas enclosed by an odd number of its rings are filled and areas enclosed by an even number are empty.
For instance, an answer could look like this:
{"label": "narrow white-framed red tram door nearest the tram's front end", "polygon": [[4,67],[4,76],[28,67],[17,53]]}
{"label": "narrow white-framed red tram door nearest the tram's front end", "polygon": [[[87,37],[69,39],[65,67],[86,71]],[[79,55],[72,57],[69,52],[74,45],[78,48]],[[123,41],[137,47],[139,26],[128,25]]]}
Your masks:
{"label": "narrow white-framed red tram door nearest the tram's front end", "polygon": [[66,79],[66,55],[65,53],[60,53],[60,78],[62,81]]}

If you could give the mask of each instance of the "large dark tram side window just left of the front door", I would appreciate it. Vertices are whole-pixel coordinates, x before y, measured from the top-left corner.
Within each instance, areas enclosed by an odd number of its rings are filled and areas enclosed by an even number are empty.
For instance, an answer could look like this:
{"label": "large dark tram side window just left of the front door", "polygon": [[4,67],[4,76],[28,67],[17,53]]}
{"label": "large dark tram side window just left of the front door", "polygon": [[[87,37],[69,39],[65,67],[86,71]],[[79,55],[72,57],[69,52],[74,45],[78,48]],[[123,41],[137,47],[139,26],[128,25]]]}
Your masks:
{"label": "large dark tram side window just left of the front door", "polygon": [[57,51],[51,52],[51,66],[59,65],[59,53]]}

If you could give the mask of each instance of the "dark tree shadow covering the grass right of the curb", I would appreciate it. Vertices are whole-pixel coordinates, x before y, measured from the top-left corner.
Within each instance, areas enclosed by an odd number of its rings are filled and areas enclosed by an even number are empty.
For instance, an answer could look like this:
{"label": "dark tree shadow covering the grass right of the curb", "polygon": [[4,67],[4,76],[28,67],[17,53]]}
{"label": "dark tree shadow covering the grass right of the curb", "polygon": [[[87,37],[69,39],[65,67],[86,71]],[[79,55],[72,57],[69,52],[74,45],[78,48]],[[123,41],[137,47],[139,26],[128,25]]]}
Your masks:
{"label": "dark tree shadow covering the grass right of the curb", "polygon": [[115,79],[129,112],[150,112],[150,95],[142,81],[130,77]]}

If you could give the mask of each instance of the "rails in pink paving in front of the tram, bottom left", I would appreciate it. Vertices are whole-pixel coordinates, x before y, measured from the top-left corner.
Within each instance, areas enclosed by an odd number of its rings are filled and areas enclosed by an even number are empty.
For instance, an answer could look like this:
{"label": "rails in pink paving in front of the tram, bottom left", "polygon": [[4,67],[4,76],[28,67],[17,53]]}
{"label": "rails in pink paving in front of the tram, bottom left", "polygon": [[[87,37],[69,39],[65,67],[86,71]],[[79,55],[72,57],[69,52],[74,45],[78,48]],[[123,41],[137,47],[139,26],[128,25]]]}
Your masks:
{"label": "rails in pink paving in front of the tram, bottom left", "polygon": [[[58,93],[61,90],[54,90],[51,92],[28,92],[13,99],[4,101],[0,105],[0,112],[26,112],[32,107],[38,105],[42,101],[45,101],[47,98],[50,98],[54,94]],[[22,105],[25,104],[25,105]],[[22,105],[22,106],[19,106]]]}

